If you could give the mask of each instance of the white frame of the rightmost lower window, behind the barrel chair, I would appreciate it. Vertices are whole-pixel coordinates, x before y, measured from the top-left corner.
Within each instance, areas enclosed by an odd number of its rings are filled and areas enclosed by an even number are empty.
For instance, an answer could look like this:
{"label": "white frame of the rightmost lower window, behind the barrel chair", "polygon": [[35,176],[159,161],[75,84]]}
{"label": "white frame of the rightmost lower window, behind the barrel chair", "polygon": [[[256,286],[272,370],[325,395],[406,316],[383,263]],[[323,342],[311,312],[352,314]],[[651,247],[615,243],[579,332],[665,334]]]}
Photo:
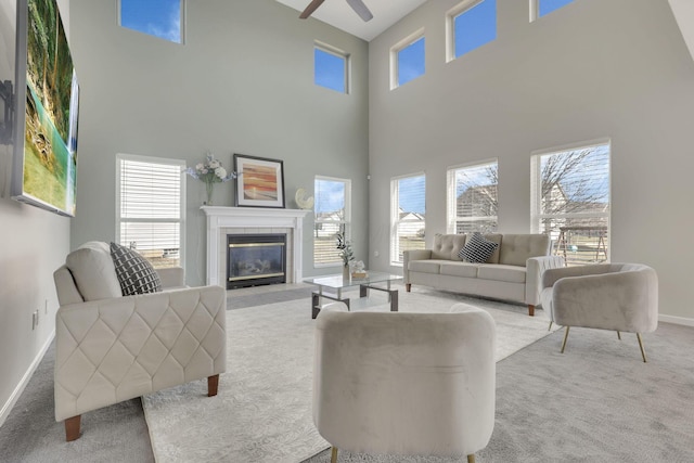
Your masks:
{"label": "white frame of the rightmost lower window, behind the barrel chair", "polygon": [[[596,149],[602,146],[607,147],[607,156],[608,156],[607,158],[607,181],[608,181],[607,211],[606,213],[543,214],[542,197],[541,197],[542,157],[553,155],[553,154],[570,153],[570,152]],[[604,249],[605,258],[606,258],[605,262],[609,262],[612,259],[611,257],[611,253],[612,253],[612,244],[611,244],[611,240],[612,240],[612,159],[613,159],[612,140],[608,138],[603,138],[597,140],[591,140],[586,142],[571,143],[571,144],[566,144],[562,146],[544,149],[544,150],[536,150],[536,151],[532,151],[530,155],[531,155],[530,157],[530,231],[532,233],[542,233],[543,231],[541,227],[541,221],[543,219],[557,219],[557,220],[591,219],[591,218],[604,219],[607,223],[607,230],[605,234],[605,237],[607,239],[607,243],[603,243],[605,246],[605,249]],[[552,252],[556,253],[558,250],[558,243],[556,242],[556,240],[558,239],[558,234],[557,236],[552,236],[552,234],[550,234],[550,237],[552,239]],[[570,261],[567,263],[570,263]]]}

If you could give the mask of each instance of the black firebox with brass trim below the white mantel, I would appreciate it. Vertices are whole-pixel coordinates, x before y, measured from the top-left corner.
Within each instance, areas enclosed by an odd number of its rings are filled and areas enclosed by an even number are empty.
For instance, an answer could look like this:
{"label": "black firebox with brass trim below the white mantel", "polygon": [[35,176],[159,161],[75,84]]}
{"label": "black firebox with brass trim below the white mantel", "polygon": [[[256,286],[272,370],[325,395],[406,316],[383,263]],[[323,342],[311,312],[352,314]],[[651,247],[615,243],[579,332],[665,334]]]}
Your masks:
{"label": "black firebox with brass trim below the white mantel", "polygon": [[286,282],[286,234],[228,234],[227,290]]}

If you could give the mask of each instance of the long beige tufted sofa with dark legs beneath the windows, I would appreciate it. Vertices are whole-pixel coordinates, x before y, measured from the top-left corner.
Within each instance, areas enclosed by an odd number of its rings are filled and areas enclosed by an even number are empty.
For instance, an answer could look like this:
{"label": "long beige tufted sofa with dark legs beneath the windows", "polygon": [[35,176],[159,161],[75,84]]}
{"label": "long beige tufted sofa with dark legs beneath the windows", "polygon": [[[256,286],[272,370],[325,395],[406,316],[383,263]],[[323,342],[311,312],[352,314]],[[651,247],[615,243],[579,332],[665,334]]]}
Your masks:
{"label": "long beige tufted sofa with dark legs beneath the windows", "polygon": [[547,269],[564,267],[564,259],[550,256],[551,241],[544,234],[486,234],[499,245],[485,263],[459,257],[472,235],[437,234],[430,249],[403,253],[403,281],[474,296],[522,303],[528,314],[540,304],[541,275]]}

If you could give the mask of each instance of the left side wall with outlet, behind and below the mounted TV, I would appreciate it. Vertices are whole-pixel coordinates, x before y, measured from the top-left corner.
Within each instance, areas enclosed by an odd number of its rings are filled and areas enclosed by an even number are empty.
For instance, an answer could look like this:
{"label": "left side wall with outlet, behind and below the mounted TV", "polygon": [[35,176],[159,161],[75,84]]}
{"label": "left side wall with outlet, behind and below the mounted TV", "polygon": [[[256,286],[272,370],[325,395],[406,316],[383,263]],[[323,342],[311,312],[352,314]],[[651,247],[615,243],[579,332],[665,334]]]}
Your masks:
{"label": "left side wall with outlet, behind and below the mounted TV", "polygon": [[[14,81],[15,3],[0,0],[0,80]],[[57,3],[69,37],[68,0]],[[70,219],[10,198],[11,167],[12,147],[0,145],[0,424],[53,337],[53,271],[65,261],[70,230]]]}

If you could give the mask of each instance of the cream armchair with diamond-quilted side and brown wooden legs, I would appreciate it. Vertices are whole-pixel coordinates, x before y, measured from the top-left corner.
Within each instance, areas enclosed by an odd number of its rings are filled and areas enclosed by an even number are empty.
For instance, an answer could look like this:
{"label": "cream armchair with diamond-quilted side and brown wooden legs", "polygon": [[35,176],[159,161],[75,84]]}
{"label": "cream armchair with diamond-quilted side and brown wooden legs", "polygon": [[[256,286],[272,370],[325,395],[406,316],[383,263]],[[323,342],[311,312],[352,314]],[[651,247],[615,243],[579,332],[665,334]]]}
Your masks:
{"label": "cream armchair with diamond-quilted side and brown wooden legs", "polygon": [[66,440],[102,407],[207,378],[217,395],[226,369],[226,291],[185,287],[180,268],[157,270],[162,292],[123,296],[110,253],[89,242],[53,273],[55,421]]}

